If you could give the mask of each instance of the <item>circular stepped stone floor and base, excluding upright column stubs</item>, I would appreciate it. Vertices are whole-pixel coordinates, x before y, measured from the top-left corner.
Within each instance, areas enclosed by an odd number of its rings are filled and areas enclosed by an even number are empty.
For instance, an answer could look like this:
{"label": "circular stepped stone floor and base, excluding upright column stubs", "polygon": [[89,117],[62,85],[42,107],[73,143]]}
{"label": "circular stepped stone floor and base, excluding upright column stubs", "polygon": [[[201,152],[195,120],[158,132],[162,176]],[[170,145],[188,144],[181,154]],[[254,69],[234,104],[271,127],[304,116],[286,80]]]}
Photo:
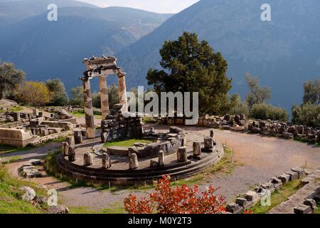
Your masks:
{"label": "circular stepped stone floor and base, excluding upright column stubs", "polygon": [[[166,135],[168,134],[173,133],[166,133]],[[170,175],[176,180],[191,177],[192,175],[202,172],[211,165],[214,165],[224,155],[223,145],[220,142],[215,142],[215,146],[212,150],[203,150],[201,155],[198,155],[197,157],[193,156],[193,148],[191,145],[191,147],[186,147],[186,161],[178,161],[176,152],[178,148],[176,148],[164,152],[164,165],[160,166],[158,156],[159,150],[162,150],[161,146],[166,145],[166,147],[170,147],[168,143],[170,144],[171,140],[174,140],[173,136],[177,135],[178,134],[169,135],[172,136],[169,137],[170,140],[145,145],[145,147],[152,148],[152,150],[141,149],[141,151],[148,151],[148,153],[143,156],[138,156],[139,167],[135,170],[129,169],[128,155],[136,153],[130,151],[130,148],[132,147],[129,148],[129,152],[128,148],[125,147],[119,147],[119,150],[106,150],[105,148],[102,148],[103,144],[101,143],[97,143],[93,146],[85,144],[77,145],[75,148],[75,161],[70,162],[68,156],[60,154],[57,157],[57,165],[63,174],[78,180],[102,183],[112,182],[112,184],[130,184],[137,182],[153,182],[154,180],[159,180],[162,175]],[[168,137],[166,137],[166,139],[167,138]],[[201,147],[203,146],[204,143],[202,142]],[[181,147],[181,144],[179,144],[178,147]],[[153,152],[149,153],[149,151]],[[90,166],[84,165],[84,157],[85,154],[87,156],[87,152],[90,152],[92,155],[92,165]],[[102,167],[102,154],[104,152],[107,153],[112,162],[112,166],[109,169]]]}

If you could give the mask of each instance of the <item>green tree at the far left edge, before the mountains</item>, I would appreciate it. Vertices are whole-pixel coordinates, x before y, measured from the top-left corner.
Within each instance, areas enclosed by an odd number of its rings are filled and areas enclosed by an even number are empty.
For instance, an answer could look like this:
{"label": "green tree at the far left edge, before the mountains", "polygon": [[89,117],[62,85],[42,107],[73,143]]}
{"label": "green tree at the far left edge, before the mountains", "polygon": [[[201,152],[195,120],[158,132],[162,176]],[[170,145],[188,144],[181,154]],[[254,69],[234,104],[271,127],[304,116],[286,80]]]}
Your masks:
{"label": "green tree at the far left edge, before the mountains", "polygon": [[4,97],[4,92],[12,91],[20,85],[26,73],[14,67],[14,63],[0,62],[0,100]]}

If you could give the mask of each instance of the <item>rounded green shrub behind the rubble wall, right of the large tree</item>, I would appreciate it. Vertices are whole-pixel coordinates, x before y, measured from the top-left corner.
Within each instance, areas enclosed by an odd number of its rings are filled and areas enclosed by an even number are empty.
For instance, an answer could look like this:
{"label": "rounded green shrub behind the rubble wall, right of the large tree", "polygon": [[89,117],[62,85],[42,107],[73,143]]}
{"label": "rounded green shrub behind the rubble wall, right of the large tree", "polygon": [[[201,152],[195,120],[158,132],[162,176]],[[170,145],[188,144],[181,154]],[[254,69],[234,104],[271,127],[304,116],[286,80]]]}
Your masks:
{"label": "rounded green shrub behind the rubble wall, right of the large tree", "polygon": [[285,122],[288,120],[288,113],[283,108],[260,103],[252,106],[250,117],[259,120],[280,120]]}

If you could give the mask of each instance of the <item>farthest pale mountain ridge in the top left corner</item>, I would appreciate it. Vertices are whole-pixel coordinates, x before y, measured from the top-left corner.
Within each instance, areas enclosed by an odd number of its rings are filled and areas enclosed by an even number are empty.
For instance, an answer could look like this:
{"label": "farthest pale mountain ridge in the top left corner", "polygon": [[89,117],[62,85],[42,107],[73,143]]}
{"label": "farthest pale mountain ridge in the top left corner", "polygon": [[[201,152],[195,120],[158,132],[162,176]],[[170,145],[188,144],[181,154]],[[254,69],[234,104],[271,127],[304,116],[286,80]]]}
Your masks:
{"label": "farthest pale mountain ridge in the top left corner", "polygon": [[97,6],[73,0],[0,0],[0,28],[43,14],[48,11],[47,7],[52,3],[56,4],[58,9],[71,6],[97,8]]}

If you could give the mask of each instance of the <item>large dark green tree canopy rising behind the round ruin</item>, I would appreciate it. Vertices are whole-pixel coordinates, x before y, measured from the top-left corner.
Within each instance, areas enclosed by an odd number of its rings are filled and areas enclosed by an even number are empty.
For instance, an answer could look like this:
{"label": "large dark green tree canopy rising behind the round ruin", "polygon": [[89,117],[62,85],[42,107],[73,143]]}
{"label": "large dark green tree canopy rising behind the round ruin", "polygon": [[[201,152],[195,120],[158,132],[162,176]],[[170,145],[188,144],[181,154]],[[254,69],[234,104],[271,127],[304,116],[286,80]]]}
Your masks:
{"label": "large dark green tree canopy rising behind the round ruin", "polygon": [[184,32],[178,40],[164,42],[160,55],[163,70],[149,69],[146,76],[156,93],[198,92],[200,113],[223,112],[231,88],[228,63],[207,41]]}

